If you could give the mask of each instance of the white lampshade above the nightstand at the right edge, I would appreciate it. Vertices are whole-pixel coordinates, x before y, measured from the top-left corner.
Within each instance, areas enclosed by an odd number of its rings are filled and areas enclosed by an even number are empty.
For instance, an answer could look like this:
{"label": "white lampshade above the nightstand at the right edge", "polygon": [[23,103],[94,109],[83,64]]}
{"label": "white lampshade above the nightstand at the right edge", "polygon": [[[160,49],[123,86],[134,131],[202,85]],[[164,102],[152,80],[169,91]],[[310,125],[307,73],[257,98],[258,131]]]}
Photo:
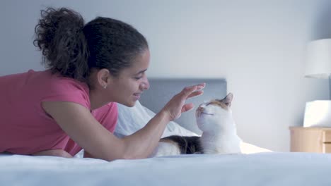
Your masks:
{"label": "white lampshade above the nightstand at the right edge", "polygon": [[308,43],[305,77],[329,78],[331,75],[331,39]]}

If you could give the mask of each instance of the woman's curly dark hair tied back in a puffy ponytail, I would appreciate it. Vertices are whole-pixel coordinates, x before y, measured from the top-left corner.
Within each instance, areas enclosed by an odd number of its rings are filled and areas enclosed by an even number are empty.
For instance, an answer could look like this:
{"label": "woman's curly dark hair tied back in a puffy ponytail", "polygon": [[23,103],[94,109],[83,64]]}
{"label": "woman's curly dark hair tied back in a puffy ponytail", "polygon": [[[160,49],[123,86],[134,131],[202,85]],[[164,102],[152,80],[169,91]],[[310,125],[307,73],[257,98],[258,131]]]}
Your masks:
{"label": "woman's curly dark hair tied back in a puffy ponytail", "polygon": [[83,82],[88,82],[92,68],[107,68],[116,77],[149,48],[131,25],[103,17],[84,25],[82,16],[69,8],[42,10],[35,35],[33,44],[52,73]]}

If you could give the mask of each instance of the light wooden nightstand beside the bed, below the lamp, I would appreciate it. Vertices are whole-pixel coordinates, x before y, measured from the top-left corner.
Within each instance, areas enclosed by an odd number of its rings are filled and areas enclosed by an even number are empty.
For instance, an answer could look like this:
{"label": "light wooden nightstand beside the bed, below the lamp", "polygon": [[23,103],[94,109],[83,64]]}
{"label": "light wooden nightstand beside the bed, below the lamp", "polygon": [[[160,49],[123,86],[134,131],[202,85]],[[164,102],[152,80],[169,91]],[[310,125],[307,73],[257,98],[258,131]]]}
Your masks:
{"label": "light wooden nightstand beside the bed, below the lamp", "polygon": [[289,127],[291,151],[331,153],[331,128]]}

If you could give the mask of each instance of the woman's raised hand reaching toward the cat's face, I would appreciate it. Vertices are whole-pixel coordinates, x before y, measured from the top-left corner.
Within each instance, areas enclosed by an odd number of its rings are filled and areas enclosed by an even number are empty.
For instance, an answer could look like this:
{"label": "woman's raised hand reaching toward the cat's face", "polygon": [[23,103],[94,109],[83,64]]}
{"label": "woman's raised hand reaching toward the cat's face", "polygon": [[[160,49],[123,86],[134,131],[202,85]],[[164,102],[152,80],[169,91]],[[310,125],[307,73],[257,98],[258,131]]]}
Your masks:
{"label": "woman's raised hand reaching toward the cat's face", "polygon": [[162,111],[167,113],[169,120],[179,118],[183,112],[190,111],[194,107],[192,103],[185,104],[186,99],[203,94],[202,89],[205,85],[205,83],[202,83],[191,87],[185,87],[180,93],[170,99],[168,104],[165,104]]}

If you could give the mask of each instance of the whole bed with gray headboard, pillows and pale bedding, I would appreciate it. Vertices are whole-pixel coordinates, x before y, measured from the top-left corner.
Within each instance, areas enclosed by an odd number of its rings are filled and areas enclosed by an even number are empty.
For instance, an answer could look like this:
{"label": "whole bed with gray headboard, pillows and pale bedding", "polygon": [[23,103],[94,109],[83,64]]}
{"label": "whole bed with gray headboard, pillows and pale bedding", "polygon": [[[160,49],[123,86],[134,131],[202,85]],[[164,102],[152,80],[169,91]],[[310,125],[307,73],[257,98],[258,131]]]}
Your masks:
{"label": "whole bed with gray headboard, pillows and pale bedding", "polygon": [[[194,104],[226,95],[226,80],[152,79],[137,106],[119,106],[115,135],[141,128],[185,85],[207,82],[205,94]],[[235,101],[235,100],[234,100]],[[131,118],[131,119],[130,119]],[[124,125],[128,121],[137,125]],[[193,123],[192,123],[193,122]],[[168,132],[168,133],[167,133]],[[163,135],[199,135],[192,113],[182,114]],[[272,152],[245,144],[244,154],[192,154],[137,160],[103,161],[54,156],[0,154],[0,185],[331,185],[331,154]]]}

